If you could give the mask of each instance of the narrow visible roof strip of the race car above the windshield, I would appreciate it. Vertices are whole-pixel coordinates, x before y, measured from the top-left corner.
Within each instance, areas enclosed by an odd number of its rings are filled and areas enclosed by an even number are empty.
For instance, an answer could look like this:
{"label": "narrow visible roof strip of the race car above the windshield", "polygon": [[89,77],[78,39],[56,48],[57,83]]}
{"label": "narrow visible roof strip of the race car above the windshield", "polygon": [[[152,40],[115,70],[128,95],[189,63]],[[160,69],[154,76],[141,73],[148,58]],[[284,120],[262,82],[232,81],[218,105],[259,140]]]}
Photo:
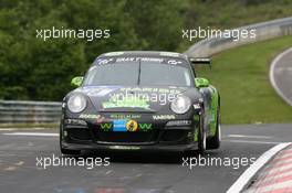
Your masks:
{"label": "narrow visible roof strip of the race car above the windshield", "polygon": [[160,52],[160,51],[121,51],[108,52],[98,57],[115,57],[115,56],[143,56],[143,57],[176,57],[187,60],[187,55],[177,52]]}

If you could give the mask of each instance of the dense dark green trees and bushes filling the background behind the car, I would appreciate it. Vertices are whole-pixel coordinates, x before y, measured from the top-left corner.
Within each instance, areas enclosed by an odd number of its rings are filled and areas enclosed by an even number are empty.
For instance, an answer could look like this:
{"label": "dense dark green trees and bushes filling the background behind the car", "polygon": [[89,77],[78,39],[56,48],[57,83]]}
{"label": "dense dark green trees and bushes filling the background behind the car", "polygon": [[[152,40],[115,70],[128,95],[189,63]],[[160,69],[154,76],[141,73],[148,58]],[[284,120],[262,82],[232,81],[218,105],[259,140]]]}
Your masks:
{"label": "dense dark green trees and bushes filling the background behind the car", "polygon": [[[0,99],[61,100],[72,89],[70,79],[83,75],[101,53],[184,51],[190,44],[181,39],[184,28],[230,28],[281,18],[291,14],[288,4],[291,1],[0,0]],[[52,26],[109,29],[111,37],[36,39],[36,30]]]}

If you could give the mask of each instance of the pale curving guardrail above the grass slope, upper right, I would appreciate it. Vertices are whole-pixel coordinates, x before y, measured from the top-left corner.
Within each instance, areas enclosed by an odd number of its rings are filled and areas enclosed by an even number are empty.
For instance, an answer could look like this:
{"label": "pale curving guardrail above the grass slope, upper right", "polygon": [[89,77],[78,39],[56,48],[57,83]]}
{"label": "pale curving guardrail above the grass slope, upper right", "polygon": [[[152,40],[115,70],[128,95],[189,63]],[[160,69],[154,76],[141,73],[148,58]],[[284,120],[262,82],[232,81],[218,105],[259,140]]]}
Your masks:
{"label": "pale curving guardrail above the grass slope, upper right", "polygon": [[199,41],[189,47],[185,54],[192,57],[210,56],[221,51],[236,47],[239,45],[273,39],[277,36],[292,34],[292,17],[267,21],[262,23],[241,26],[234,30],[255,30],[257,37],[240,39],[233,41],[233,37],[210,37]]}

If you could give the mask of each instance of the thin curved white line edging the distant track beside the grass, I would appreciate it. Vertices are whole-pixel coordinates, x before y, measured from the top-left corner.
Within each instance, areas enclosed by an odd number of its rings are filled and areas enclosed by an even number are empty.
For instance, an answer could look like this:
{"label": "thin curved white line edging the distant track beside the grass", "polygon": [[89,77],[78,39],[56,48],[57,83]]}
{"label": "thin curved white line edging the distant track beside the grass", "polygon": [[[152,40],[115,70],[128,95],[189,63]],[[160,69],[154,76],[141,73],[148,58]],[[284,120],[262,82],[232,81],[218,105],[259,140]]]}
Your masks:
{"label": "thin curved white line edging the distant track beside the grass", "polygon": [[292,106],[292,101],[281,92],[281,89],[279,89],[275,81],[274,81],[274,68],[278,64],[278,62],[285,55],[288,54],[289,52],[292,52],[292,47],[285,50],[284,52],[282,52],[281,54],[279,54],[273,61],[272,61],[272,64],[271,64],[271,67],[270,67],[270,82],[273,86],[273,88],[275,89],[275,92],[278,93],[278,95],[280,95],[289,105]]}

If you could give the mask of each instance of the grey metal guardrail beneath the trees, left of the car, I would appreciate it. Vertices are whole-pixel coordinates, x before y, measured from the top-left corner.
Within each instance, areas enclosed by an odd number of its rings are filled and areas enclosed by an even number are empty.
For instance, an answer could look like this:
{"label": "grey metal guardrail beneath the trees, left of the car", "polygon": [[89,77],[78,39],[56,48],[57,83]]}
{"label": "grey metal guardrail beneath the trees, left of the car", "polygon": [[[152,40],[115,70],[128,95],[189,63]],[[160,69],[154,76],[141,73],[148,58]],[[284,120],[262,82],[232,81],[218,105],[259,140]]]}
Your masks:
{"label": "grey metal guardrail beneath the trees, left of the car", "polygon": [[61,103],[0,100],[0,124],[59,122]]}

